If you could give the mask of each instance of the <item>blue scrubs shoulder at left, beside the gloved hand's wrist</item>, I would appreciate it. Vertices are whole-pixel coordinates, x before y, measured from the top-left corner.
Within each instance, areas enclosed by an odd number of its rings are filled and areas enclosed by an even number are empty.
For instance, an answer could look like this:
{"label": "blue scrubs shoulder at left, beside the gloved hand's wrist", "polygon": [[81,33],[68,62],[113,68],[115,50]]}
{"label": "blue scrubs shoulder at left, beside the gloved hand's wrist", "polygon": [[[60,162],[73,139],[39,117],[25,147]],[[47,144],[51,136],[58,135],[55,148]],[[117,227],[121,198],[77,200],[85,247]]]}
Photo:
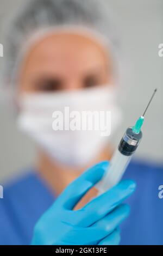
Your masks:
{"label": "blue scrubs shoulder at left, beside the gloved hand's wrist", "polygon": [[0,199],[0,244],[28,244],[35,222],[53,203],[46,184],[26,171],[3,186]]}

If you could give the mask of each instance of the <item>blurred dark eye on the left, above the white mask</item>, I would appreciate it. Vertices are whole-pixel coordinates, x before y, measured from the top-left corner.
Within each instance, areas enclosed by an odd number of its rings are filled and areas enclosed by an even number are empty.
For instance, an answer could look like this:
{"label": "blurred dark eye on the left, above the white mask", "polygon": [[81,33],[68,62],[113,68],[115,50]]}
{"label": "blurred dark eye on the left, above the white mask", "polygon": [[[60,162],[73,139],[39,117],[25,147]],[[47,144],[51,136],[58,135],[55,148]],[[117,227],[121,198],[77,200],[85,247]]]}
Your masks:
{"label": "blurred dark eye on the left, above the white mask", "polygon": [[59,79],[42,78],[34,83],[34,87],[40,92],[51,92],[55,90],[61,90],[62,81]]}

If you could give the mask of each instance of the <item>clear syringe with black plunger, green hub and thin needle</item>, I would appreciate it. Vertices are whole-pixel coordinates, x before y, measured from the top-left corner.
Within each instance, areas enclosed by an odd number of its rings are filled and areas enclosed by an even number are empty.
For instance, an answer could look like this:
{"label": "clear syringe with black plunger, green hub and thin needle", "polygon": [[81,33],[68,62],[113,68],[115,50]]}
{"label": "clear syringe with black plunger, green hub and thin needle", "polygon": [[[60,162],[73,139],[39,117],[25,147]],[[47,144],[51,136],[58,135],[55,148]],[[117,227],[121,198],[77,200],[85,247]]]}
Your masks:
{"label": "clear syringe with black plunger, green hub and thin needle", "polygon": [[110,166],[108,172],[104,175],[103,179],[96,184],[96,187],[99,191],[99,194],[104,193],[109,188],[116,185],[122,178],[133,154],[135,153],[137,147],[142,138],[141,126],[144,121],[144,116],[151,103],[154,94],[148,102],[148,105],[145,109],[143,115],[137,119],[136,124],[134,126],[128,127],[126,132],[124,133],[120,144],[118,145],[117,150],[115,151],[112,159],[110,161]]}

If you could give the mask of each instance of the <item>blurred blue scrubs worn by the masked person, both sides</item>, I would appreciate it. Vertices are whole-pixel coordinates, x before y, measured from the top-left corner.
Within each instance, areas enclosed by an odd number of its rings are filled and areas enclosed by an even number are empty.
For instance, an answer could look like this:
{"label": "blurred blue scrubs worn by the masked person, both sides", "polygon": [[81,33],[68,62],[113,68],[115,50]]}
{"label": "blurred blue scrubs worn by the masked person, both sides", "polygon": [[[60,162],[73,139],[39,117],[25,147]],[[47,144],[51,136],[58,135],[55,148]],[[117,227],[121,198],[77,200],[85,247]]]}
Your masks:
{"label": "blurred blue scrubs worn by the masked person, both sides", "polygon": [[[163,167],[131,162],[123,179],[137,183],[136,192],[127,199],[130,216],[121,225],[122,245],[163,245]],[[29,245],[33,228],[55,198],[35,172],[27,172],[4,187],[0,199],[0,245]]]}

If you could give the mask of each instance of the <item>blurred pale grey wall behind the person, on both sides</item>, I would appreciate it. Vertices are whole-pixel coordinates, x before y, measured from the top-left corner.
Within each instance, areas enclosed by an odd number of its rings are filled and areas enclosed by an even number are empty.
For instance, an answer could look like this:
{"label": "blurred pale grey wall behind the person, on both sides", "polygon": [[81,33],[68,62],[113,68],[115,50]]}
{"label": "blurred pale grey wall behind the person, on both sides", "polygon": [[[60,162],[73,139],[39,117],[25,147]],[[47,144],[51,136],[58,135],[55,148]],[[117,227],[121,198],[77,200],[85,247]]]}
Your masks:
{"label": "blurred pale grey wall behind the person, on both sides", "polygon": [[[92,0],[93,1],[93,0]],[[0,43],[8,17],[25,0],[1,0]],[[125,78],[121,87],[120,103],[124,120],[112,142],[120,141],[127,126],[133,125],[145,109],[154,88],[158,93],[146,115],[143,141],[135,157],[143,161],[163,162],[163,57],[158,56],[158,45],[163,43],[162,0],[108,0],[114,22],[120,33]],[[5,47],[5,46],[4,46]],[[0,65],[3,57],[0,58]],[[1,66],[0,66],[1,68]],[[35,149],[32,141],[19,133],[12,105],[0,84],[0,183],[24,167],[32,166]]]}

